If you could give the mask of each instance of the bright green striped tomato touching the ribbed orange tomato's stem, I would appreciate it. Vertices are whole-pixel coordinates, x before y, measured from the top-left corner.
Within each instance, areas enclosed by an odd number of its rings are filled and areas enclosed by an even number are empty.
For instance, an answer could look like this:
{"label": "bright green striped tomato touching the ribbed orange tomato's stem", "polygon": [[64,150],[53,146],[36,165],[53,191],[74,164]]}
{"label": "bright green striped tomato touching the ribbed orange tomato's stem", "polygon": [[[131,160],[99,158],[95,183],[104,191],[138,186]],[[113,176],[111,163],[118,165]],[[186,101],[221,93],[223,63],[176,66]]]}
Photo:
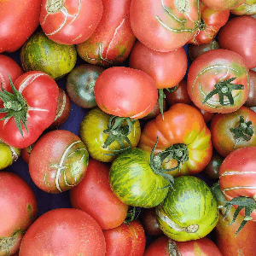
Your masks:
{"label": "bright green striped tomato touching the ribbed orange tomato's stem", "polygon": [[131,148],[113,160],[109,183],[120,201],[132,207],[155,207],[164,200],[168,182],[150,166],[149,154]]}

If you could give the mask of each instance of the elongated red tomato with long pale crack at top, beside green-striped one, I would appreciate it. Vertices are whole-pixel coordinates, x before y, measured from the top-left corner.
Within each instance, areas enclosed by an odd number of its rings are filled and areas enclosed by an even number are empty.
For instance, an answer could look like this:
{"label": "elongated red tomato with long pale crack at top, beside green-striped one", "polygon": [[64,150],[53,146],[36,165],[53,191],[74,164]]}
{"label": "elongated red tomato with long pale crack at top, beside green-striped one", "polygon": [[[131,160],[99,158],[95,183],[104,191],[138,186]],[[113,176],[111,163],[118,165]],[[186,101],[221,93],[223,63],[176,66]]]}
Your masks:
{"label": "elongated red tomato with long pale crack at top, beside green-striped one", "polygon": [[131,52],[136,37],[131,30],[131,0],[102,0],[102,20],[84,43],[77,45],[79,56],[91,64],[117,66]]}

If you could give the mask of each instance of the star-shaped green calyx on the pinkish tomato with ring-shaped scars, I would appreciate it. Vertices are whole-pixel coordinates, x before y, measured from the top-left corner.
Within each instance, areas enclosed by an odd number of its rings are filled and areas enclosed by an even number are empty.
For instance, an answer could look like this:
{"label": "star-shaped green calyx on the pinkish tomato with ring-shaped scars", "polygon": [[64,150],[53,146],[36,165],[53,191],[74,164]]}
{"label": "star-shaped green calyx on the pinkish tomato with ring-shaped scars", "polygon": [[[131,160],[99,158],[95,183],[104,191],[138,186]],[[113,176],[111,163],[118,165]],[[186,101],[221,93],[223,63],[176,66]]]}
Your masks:
{"label": "star-shaped green calyx on the pinkish tomato with ring-shaped scars", "polygon": [[[206,103],[212,96],[215,94],[218,94],[219,97],[219,103],[222,106],[233,106],[234,105],[234,98],[232,96],[232,90],[243,90],[244,85],[242,84],[231,84],[232,81],[234,81],[236,78],[231,78],[224,80],[222,82],[218,82],[214,85],[215,89],[212,90],[207,94],[205,99],[203,100],[202,104]],[[229,99],[228,103],[224,103],[224,96],[226,96]]]}

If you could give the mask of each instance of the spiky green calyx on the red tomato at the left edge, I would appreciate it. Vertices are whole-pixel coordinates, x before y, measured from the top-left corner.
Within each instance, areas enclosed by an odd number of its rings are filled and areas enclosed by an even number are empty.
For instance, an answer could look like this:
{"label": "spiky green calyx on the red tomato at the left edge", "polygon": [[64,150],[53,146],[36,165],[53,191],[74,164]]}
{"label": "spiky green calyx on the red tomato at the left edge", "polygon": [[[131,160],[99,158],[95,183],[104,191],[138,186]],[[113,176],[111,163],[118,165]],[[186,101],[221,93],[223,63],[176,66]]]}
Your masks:
{"label": "spiky green calyx on the red tomato at the left edge", "polygon": [[17,125],[17,128],[20,131],[22,138],[24,139],[21,124],[24,125],[26,132],[28,132],[26,126],[26,124],[28,123],[26,100],[21,95],[20,91],[16,90],[15,85],[10,78],[9,82],[14,93],[10,93],[9,91],[4,90],[3,84],[1,84],[2,91],[0,91],[0,98],[3,101],[4,108],[0,108],[0,113],[7,113],[3,117],[3,119],[10,119],[11,117],[15,119],[15,124]]}

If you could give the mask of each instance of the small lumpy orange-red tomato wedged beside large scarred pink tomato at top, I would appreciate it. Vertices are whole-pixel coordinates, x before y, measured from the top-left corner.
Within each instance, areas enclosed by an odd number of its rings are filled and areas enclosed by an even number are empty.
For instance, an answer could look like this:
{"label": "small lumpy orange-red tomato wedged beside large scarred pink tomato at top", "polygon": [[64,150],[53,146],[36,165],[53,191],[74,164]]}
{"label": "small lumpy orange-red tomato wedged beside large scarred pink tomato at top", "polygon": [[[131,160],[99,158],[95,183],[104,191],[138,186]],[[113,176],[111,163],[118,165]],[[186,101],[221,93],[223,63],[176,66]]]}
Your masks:
{"label": "small lumpy orange-red tomato wedged beside large scarred pink tomato at top", "polygon": [[189,44],[208,44],[217,35],[221,26],[224,26],[230,17],[230,10],[214,10],[200,1],[201,23]]}

